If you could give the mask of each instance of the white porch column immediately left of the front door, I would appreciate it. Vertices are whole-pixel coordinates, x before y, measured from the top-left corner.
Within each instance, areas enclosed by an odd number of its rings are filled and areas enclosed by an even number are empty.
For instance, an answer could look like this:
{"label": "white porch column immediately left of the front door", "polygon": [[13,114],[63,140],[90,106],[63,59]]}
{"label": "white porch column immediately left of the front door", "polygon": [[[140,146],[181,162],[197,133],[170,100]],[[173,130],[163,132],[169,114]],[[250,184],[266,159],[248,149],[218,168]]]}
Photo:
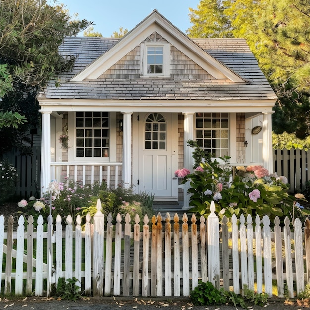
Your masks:
{"label": "white porch column immediately left of the front door", "polygon": [[123,182],[124,187],[131,186],[131,114],[132,112],[121,112],[123,114]]}

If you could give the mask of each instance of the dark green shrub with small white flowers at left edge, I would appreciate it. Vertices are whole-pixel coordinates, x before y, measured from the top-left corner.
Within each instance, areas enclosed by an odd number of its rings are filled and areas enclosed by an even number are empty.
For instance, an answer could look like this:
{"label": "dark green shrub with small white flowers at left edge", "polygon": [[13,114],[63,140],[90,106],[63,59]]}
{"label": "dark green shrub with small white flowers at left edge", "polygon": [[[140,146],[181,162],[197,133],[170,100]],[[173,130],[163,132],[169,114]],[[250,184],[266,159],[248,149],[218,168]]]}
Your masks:
{"label": "dark green shrub with small white flowers at left edge", "polygon": [[16,169],[13,165],[9,164],[7,160],[0,162],[0,203],[6,202],[11,198],[16,189]]}

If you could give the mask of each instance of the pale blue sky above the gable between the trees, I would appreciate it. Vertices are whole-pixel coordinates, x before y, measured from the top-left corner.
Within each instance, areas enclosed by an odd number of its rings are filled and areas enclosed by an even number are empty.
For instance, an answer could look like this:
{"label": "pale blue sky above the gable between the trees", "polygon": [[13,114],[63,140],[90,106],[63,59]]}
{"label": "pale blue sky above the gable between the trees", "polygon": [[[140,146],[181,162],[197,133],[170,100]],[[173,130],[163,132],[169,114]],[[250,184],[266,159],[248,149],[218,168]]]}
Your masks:
{"label": "pale blue sky above the gable between the trees", "polygon": [[131,30],[154,9],[185,32],[191,26],[188,8],[196,9],[199,0],[57,0],[56,3],[63,3],[71,16],[78,13],[79,19],[91,20],[94,31],[103,37],[111,37],[119,27]]}

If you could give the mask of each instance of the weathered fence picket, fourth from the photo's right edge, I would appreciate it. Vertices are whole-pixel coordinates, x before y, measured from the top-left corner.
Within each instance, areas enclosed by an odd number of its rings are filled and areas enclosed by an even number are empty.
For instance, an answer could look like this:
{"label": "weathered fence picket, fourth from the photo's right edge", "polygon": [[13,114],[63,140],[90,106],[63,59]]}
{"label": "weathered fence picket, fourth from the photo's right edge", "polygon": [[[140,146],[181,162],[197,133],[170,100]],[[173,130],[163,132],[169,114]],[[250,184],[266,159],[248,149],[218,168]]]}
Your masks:
{"label": "weathered fence picket, fourth from the photo's right edge", "polygon": [[280,219],[277,216],[274,220],[274,241],[275,241],[275,261],[277,271],[278,297],[284,296],[284,279],[283,279],[283,258],[282,258],[282,232]]}

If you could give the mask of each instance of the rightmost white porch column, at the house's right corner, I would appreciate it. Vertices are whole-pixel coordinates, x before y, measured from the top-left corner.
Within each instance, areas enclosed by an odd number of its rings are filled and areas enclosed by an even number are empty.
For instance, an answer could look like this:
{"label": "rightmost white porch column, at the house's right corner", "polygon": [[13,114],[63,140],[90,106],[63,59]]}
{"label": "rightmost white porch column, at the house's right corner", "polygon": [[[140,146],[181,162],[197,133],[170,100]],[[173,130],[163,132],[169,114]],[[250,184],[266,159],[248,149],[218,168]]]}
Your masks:
{"label": "rightmost white porch column, at the house's right corner", "polygon": [[266,168],[269,173],[273,173],[273,153],[272,153],[272,115],[273,112],[266,112],[263,114],[262,121],[262,160],[264,168]]}

